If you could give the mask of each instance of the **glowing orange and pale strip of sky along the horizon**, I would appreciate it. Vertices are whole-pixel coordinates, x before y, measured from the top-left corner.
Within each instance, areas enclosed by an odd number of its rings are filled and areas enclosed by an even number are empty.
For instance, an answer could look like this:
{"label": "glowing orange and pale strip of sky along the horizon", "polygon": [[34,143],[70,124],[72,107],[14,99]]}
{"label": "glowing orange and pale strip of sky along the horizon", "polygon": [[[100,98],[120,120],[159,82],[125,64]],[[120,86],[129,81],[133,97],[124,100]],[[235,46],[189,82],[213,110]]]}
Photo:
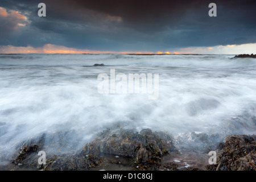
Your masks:
{"label": "glowing orange and pale strip of sky along the horizon", "polygon": [[[215,46],[215,47],[187,47],[177,49],[177,51],[166,51],[168,54],[188,54],[188,53],[229,53],[236,54],[237,50],[243,52],[255,52],[256,43],[254,44],[241,44],[241,45],[227,45],[227,46]],[[246,52],[246,53],[247,53]],[[18,46],[0,46],[0,53],[119,53],[119,54],[163,54],[163,52],[147,52],[147,51],[96,51],[89,49],[77,49],[65,46],[57,46],[55,44],[45,44],[42,47],[18,47]]]}

